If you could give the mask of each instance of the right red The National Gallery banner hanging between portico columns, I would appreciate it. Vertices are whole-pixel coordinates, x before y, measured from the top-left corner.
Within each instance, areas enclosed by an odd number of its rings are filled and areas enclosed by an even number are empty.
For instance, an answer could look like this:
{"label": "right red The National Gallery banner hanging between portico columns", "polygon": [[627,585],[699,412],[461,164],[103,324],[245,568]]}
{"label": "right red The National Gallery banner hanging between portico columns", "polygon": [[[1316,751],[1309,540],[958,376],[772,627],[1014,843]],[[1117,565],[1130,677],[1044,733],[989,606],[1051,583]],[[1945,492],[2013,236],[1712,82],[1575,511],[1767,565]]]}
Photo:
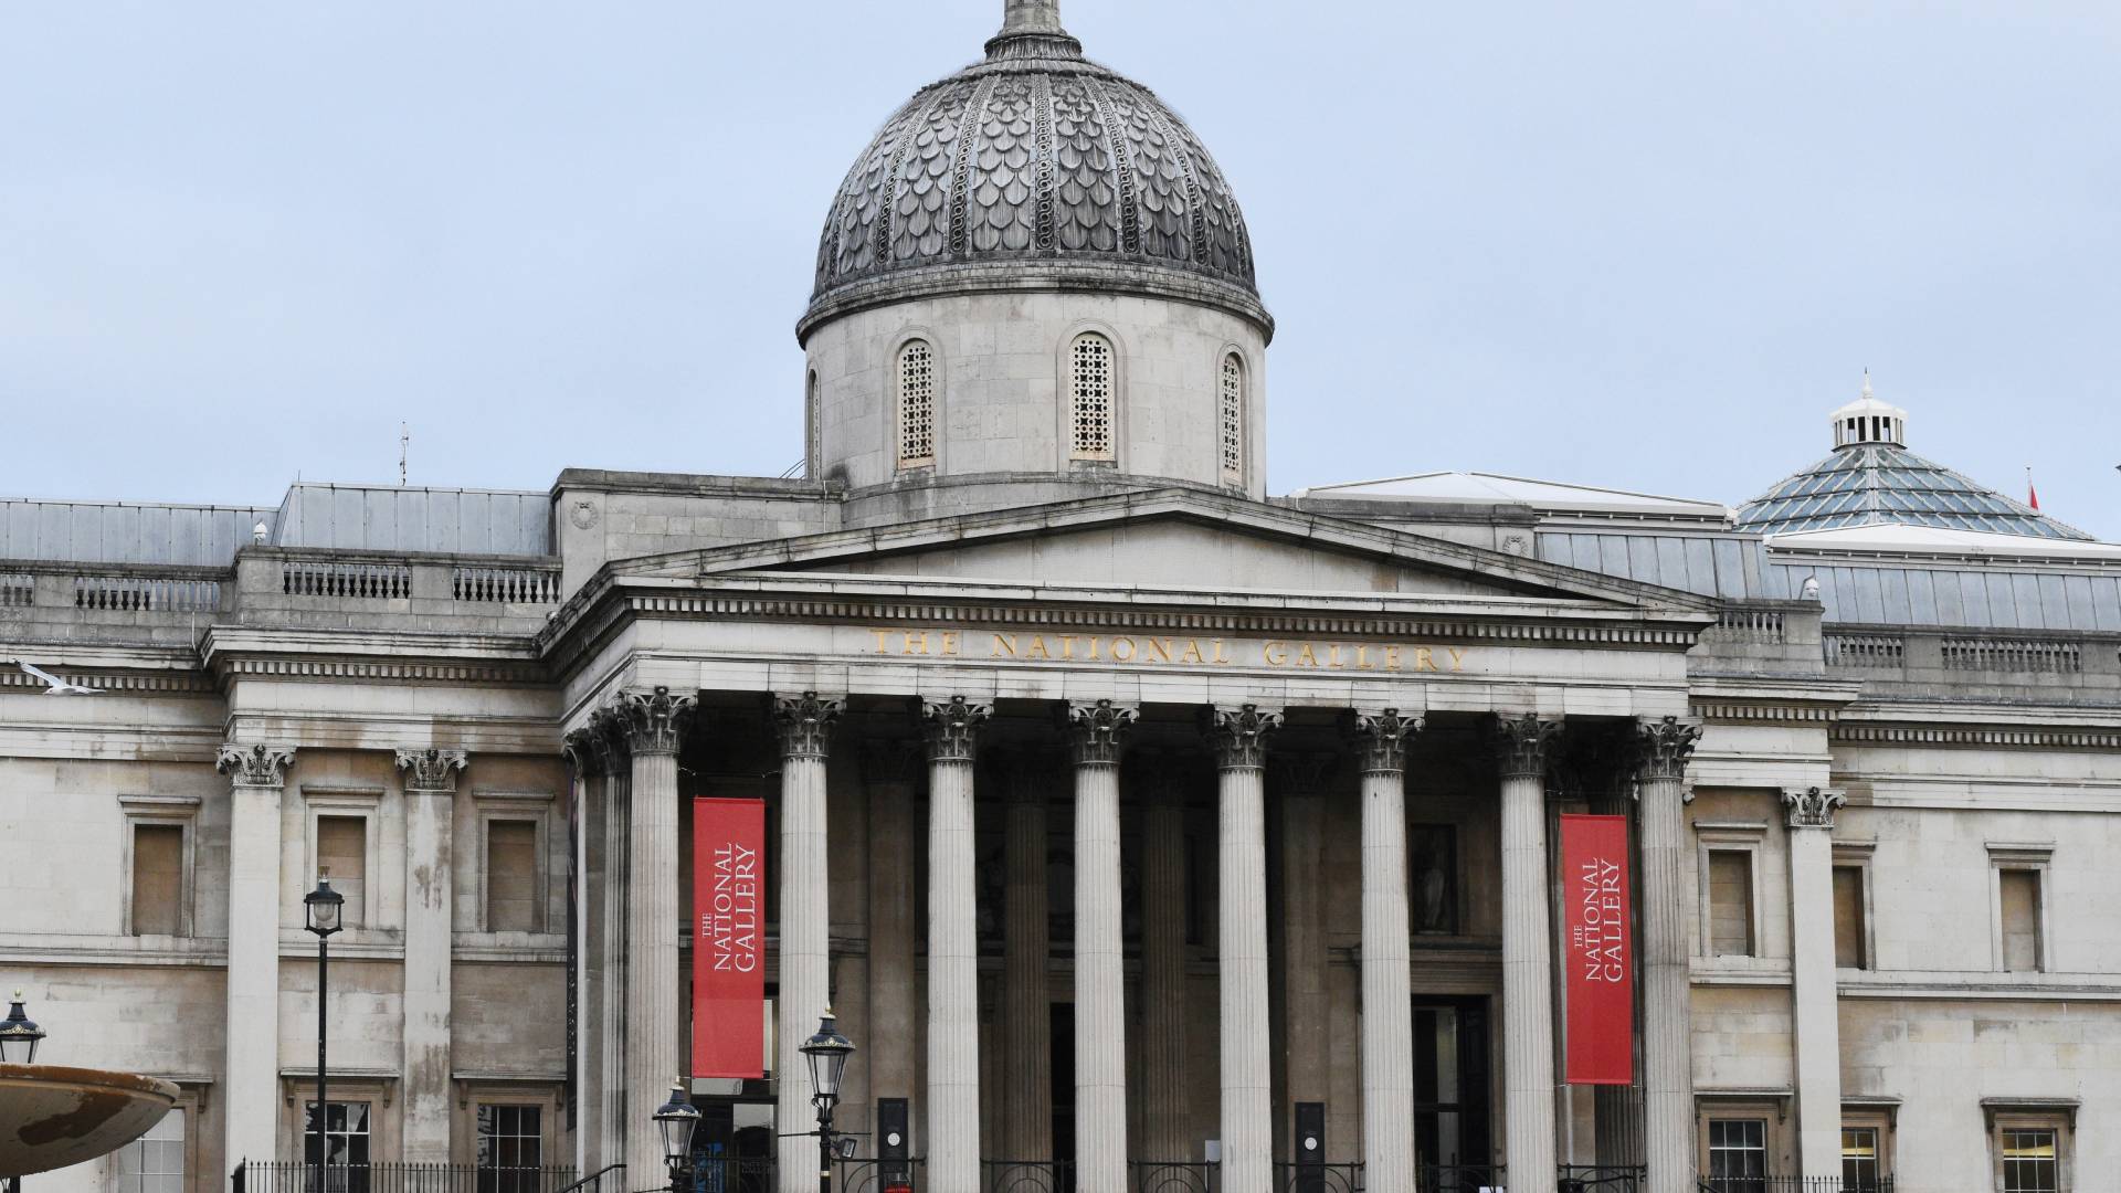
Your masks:
{"label": "right red The National Gallery banner hanging between portico columns", "polygon": [[1567,1083],[1635,1076],[1635,964],[1627,817],[1561,817],[1561,955],[1567,970]]}

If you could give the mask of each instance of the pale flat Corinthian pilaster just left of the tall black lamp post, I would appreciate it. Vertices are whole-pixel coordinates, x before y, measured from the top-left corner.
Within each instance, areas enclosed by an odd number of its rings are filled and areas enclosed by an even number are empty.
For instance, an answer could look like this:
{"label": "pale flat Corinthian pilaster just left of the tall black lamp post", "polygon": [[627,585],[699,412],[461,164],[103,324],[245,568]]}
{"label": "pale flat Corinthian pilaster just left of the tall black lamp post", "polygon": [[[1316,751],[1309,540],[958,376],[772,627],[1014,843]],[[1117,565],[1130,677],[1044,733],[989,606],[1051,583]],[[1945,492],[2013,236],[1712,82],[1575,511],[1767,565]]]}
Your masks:
{"label": "pale flat Corinthian pilaster just left of the tall black lamp post", "polygon": [[280,1078],[280,792],[293,745],[223,745],[229,790],[227,1161],[274,1159]]}

